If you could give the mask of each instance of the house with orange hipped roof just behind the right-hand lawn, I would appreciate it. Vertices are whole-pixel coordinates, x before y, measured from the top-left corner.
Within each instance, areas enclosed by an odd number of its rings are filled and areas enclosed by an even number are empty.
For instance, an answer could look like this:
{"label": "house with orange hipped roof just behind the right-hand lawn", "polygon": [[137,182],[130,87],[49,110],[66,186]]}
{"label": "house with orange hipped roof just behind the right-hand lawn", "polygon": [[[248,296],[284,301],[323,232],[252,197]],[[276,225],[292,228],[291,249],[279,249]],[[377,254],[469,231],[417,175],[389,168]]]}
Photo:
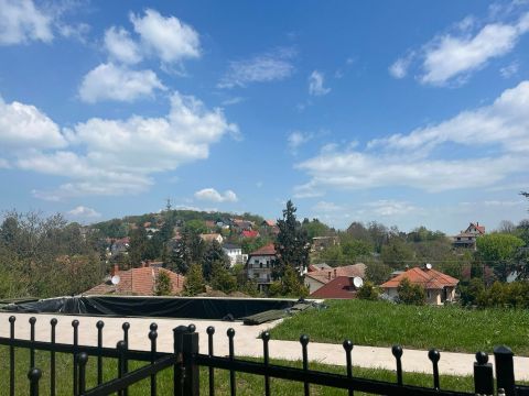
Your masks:
{"label": "house with orange hipped roof just behind the right-hand lawn", "polygon": [[402,279],[407,278],[413,285],[424,287],[427,292],[427,302],[432,305],[443,305],[445,301],[453,301],[455,298],[455,287],[460,283],[456,278],[433,270],[431,265],[424,267],[409,268],[404,273],[389,279],[380,287],[386,295],[396,299],[398,297],[398,287]]}

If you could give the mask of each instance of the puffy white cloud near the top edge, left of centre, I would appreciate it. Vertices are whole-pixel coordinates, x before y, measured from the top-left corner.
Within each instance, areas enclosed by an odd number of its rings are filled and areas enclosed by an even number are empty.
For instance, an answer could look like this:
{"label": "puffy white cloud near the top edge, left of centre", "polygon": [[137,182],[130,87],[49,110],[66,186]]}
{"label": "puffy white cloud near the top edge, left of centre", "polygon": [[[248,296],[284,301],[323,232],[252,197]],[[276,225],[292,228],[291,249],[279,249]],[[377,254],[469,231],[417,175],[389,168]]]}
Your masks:
{"label": "puffy white cloud near the top edge, left of centre", "polygon": [[165,18],[148,9],[143,16],[131,13],[130,21],[147,51],[156,54],[163,62],[174,63],[201,56],[198,33],[176,16]]}

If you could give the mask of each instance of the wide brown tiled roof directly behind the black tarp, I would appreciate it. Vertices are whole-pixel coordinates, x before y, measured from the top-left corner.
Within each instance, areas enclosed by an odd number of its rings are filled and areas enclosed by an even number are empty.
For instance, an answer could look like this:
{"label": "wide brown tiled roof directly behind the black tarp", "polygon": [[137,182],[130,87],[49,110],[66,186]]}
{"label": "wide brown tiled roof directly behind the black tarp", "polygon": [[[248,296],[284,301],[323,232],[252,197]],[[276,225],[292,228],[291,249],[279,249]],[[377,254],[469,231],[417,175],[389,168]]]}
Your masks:
{"label": "wide brown tiled roof directly behind the black tarp", "polygon": [[159,267],[141,267],[129,271],[120,271],[119,284],[114,286],[110,282],[105,282],[100,285],[86,290],[85,295],[102,295],[102,294],[119,294],[133,296],[153,296],[156,284],[158,274],[164,272],[171,279],[173,287],[172,294],[179,294],[184,286],[185,276],[176,274],[172,271]]}

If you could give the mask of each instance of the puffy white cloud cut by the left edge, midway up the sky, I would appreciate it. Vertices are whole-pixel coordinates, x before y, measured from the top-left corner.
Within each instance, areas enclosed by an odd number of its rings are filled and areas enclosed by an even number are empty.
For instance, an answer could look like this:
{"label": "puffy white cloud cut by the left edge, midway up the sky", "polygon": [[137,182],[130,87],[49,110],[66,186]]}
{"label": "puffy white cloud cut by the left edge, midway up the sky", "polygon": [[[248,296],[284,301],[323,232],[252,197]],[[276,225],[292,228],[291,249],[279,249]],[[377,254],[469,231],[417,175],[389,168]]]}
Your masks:
{"label": "puffy white cloud cut by the left edge, midway up the sky", "polygon": [[58,127],[34,106],[6,103],[0,97],[0,151],[2,148],[60,148],[66,145]]}

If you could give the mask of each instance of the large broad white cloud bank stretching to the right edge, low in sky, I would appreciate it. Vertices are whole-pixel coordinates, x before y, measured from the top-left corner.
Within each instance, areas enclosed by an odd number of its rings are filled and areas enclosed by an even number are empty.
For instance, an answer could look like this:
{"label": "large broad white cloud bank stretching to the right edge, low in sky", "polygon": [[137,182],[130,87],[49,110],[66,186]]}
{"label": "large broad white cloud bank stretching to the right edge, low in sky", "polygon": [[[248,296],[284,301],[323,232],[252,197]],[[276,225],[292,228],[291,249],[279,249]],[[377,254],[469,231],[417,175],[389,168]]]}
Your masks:
{"label": "large broad white cloud bank stretching to the right edge, low in sky", "polygon": [[[408,134],[374,140],[364,151],[326,146],[296,165],[311,179],[294,191],[307,197],[326,189],[404,186],[433,193],[495,185],[529,166],[528,106],[529,81],[523,81],[490,106]],[[471,155],[443,160],[446,145],[469,147],[464,152]]]}

